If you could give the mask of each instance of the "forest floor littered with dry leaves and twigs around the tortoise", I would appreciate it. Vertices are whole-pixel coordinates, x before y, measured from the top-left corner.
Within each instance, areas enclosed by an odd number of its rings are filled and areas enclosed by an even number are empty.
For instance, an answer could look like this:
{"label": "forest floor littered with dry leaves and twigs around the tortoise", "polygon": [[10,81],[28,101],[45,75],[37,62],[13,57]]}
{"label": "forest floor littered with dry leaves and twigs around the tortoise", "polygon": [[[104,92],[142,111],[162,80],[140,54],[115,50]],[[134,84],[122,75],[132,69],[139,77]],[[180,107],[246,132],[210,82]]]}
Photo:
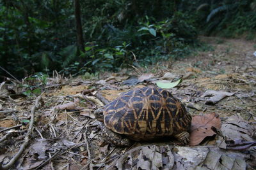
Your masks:
{"label": "forest floor littered with dry leaves and twigs around the tortoise", "polygon": [[[25,142],[13,169],[255,169],[256,43],[201,39],[213,50],[104,73],[100,79],[56,73],[47,80],[1,83],[1,168],[11,164]],[[156,86],[156,81],[176,81],[182,75],[182,83],[169,90],[193,115],[189,145],[170,139],[130,147],[102,142],[93,110],[104,102],[97,94],[111,101],[134,87]],[[38,103],[33,95],[22,95],[25,85],[44,91]]]}

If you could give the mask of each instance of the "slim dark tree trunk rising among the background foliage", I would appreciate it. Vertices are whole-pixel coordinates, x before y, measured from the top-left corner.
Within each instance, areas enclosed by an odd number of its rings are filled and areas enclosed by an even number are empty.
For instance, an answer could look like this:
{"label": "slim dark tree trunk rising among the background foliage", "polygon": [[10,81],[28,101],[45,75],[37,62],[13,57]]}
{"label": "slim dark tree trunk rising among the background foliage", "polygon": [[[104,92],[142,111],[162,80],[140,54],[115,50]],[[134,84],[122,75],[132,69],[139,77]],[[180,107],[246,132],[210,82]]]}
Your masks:
{"label": "slim dark tree trunk rising among the background foliage", "polygon": [[76,17],[76,36],[77,36],[77,45],[79,49],[84,52],[84,39],[83,39],[83,29],[81,24],[81,11],[79,0],[74,0],[75,6],[75,17]]}

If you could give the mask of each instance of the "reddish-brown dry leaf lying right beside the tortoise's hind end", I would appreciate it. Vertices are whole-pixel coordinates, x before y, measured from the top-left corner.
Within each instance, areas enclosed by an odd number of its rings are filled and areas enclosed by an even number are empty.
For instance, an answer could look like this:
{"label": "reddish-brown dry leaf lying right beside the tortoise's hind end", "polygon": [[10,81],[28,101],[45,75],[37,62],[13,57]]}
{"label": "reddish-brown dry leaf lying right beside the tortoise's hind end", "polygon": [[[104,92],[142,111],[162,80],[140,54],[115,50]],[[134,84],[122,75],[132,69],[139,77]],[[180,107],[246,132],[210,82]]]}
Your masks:
{"label": "reddish-brown dry leaf lying right beside the tortoise's hind end", "polygon": [[201,143],[205,137],[216,134],[211,127],[221,128],[220,117],[216,113],[207,115],[196,115],[192,117],[191,133],[189,136],[189,145],[195,146]]}

